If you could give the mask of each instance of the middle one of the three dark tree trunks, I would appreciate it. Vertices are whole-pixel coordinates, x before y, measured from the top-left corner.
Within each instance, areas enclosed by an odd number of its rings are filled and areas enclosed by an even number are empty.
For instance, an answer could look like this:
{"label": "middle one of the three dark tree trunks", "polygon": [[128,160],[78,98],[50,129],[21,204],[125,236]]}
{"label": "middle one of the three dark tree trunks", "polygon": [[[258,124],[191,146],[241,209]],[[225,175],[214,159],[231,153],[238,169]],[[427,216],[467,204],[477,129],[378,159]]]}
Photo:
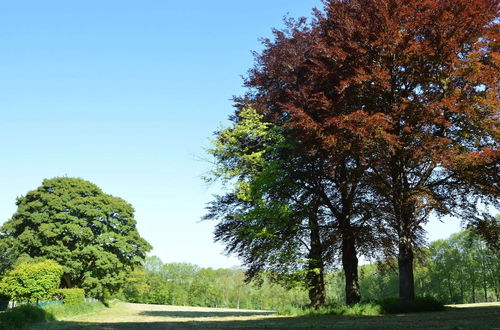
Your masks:
{"label": "middle one of the three dark tree trunks", "polygon": [[342,266],[345,275],[345,300],[351,306],[359,303],[358,282],[358,257],[356,256],[356,244],[351,230],[344,230],[342,235]]}

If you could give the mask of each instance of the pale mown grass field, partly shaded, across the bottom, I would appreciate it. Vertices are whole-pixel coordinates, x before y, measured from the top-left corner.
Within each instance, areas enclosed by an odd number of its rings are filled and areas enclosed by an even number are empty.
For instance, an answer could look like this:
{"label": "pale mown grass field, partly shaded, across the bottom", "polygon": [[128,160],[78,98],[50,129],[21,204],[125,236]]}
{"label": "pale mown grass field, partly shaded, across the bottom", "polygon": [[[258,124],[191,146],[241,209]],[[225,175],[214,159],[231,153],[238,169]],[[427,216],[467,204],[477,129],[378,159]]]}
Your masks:
{"label": "pale mown grass field, partly shaded, across the bottom", "polygon": [[500,329],[500,303],[449,306],[446,311],[384,316],[287,317],[268,311],[118,303],[92,314],[30,329]]}

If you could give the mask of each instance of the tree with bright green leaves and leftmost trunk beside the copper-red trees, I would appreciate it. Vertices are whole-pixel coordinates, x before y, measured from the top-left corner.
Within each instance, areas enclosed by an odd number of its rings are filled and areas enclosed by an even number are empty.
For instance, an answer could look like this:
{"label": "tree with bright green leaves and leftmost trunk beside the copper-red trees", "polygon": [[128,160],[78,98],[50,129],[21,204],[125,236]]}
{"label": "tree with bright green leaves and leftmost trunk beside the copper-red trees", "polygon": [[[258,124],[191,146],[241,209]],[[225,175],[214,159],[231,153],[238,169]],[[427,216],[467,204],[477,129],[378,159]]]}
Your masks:
{"label": "tree with bright green leaves and leftmost trunk beside the copper-red trees", "polygon": [[293,152],[282,128],[263,122],[252,108],[241,110],[233,127],[216,133],[209,153],[216,165],[211,179],[232,185],[205,217],[219,220],[216,240],[243,259],[248,280],[265,270],[278,280],[301,273],[311,306],[324,304],[328,228],[321,204],[303,185],[312,175],[305,167],[314,165]]}

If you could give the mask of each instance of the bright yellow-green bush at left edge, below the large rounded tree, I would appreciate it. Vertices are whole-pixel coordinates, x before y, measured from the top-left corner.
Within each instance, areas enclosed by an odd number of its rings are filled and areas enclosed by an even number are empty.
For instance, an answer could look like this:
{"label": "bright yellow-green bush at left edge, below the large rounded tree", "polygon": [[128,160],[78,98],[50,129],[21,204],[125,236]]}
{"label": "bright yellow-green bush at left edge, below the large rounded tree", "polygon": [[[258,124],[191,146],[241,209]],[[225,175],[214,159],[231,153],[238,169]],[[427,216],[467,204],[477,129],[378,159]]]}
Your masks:
{"label": "bright yellow-green bush at left edge, below the large rounded tree", "polygon": [[0,292],[20,302],[35,302],[49,297],[59,286],[63,268],[55,261],[23,263],[0,281]]}

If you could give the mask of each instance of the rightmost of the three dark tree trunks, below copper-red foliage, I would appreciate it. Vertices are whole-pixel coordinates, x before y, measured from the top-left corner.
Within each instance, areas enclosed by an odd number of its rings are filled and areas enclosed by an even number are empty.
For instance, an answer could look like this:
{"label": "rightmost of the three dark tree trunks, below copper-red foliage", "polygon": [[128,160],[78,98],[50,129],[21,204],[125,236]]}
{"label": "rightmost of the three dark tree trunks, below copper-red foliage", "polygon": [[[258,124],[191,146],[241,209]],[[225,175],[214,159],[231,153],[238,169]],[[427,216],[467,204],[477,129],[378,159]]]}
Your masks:
{"label": "rightmost of the three dark tree trunks, below copper-red foliage", "polygon": [[407,235],[399,238],[398,268],[399,298],[403,301],[414,301],[413,249],[411,239]]}

